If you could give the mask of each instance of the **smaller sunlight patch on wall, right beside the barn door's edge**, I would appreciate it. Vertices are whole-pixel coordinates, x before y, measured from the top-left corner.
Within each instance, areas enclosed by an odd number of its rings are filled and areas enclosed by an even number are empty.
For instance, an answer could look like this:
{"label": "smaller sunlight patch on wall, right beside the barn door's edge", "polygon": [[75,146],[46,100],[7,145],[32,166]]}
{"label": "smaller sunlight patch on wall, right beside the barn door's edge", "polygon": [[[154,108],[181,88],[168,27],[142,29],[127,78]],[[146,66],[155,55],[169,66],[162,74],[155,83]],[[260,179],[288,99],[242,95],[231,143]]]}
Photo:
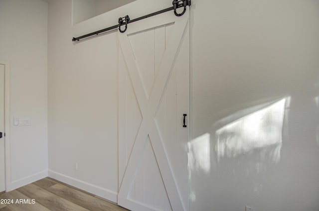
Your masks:
{"label": "smaller sunlight patch on wall, right beside the barn door's edge", "polygon": [[188,161],[191,171],[210,173],[210,134],[205,133],[188,143]]}

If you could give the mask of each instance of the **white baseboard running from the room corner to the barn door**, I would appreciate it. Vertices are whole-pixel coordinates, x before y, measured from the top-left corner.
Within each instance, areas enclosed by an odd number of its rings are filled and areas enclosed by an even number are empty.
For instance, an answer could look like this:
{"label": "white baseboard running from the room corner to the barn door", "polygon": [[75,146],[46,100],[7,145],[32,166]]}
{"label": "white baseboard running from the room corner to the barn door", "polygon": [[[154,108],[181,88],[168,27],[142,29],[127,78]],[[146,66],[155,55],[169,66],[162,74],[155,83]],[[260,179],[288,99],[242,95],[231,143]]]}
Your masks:
{"label": "white baseboard running from the room corner to the barn door", "polygon": [[70,176],[67,176],[64,174],[60,174],[58,172],[51,171],[51,170],[48,171],[48,176],[55,179],[55,180],[58,180],[58,181],[61,181],[63,183],[66,183],[68,185],[79,188],[83,191],[86,191],[86,192],[89,192],[89,193],[94,194],[96,196],[102,197],[102,198],[109,200],[111,202],[117,203],[117,193],[114,191],[111,191],[109,189],[102,188],[102,187],[75,179],[73,177],[70,177]]}

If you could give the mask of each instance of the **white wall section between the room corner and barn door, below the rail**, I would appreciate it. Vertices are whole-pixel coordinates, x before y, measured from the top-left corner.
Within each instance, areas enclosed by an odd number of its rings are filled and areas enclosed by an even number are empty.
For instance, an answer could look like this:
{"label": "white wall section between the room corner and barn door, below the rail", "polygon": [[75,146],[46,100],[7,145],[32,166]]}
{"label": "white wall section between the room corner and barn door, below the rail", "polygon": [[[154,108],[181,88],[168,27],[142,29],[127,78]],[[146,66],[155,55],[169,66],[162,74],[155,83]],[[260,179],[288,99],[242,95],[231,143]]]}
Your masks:
{"label": "white wall section between the room corner and barn door, below the rail", "polygon": [[71,10],[49,2],[49,175],[116,201],[116,34],[73,43]]}

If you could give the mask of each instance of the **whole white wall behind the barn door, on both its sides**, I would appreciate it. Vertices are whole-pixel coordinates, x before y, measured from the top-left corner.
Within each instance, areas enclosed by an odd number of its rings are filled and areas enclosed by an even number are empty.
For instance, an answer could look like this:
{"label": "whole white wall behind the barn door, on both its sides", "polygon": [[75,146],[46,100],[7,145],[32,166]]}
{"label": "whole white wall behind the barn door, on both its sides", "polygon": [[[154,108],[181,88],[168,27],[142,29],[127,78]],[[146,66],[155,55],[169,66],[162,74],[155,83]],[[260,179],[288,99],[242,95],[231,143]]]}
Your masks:
{"label": "whole white wall behind the barn door, on both its sides", "polygon": [[[317,210],[318,1],[192,4],[191,210]],[[71,37],[170,5],[138,0],[72,27],[71,0],[49,2],[50,176],[116,201],[116,33]]]}

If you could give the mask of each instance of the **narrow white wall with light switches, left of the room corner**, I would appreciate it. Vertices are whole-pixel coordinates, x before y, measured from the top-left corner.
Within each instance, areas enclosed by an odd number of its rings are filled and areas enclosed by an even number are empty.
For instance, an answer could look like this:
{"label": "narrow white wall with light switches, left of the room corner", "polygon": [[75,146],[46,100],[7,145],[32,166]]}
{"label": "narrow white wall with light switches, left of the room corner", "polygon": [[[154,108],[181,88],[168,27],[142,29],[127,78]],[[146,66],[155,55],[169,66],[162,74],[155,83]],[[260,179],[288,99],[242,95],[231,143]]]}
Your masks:
{"label": "narrow white wall with light switches, left of the room corner", "polygon": [[[47,176],[47,3],[0,0],[0,60],[10,64],[7,191]],[[13,117],[29,126],[13,126]]]}

